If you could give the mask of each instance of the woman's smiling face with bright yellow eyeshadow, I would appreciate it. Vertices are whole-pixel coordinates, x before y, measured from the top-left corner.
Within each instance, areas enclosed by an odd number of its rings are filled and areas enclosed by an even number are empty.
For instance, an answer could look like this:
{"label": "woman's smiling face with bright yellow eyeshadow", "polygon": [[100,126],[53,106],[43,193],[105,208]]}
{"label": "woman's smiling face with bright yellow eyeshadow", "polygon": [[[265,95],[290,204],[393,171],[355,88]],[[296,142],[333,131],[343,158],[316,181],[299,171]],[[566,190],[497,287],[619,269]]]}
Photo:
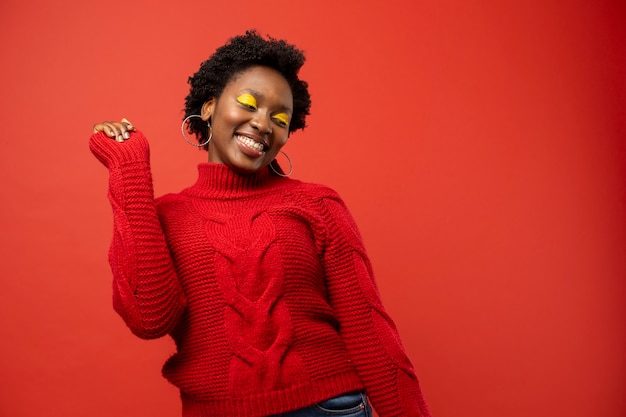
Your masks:
{"label": "woman's smiling face with bright yellow eyeshadow", "polygon": [[256,66],[236,75],[202,106],[213,128],[209,162],[243,173],[265,167],[287,143],[292,114],[291,88],[279,72]]}

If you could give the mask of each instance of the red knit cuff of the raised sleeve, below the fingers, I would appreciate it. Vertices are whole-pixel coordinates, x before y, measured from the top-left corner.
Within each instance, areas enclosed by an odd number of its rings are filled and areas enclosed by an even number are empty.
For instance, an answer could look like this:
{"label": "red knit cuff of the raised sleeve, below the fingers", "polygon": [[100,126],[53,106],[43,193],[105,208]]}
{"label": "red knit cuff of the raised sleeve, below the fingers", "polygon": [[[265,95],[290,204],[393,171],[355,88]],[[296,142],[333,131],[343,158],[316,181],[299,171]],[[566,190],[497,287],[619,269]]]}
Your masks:
{"label": "red knit cuff of the raised sleeve, below the fingers", "polygon": [[122,143],[103,132],[94,133],[89,138],[89,149],[107,168],[131,162],[148,162],[150,159],[148,140],[139,131],[130,132],[130,138]]}

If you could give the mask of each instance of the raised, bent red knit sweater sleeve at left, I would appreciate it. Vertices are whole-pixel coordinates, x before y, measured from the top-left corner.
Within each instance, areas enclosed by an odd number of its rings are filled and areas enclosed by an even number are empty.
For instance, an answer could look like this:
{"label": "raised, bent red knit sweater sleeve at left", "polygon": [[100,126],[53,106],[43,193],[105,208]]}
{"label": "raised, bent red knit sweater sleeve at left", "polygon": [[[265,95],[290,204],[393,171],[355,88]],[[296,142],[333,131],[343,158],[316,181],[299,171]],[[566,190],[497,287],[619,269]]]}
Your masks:
{"label": "raised, bent red knit sweater sleeve at left", "polygon": [[148,141],[140,132],[124,143],[96,133],[89,147],[109,169],[113,307],[137,336],[164,336],[178,323],[185,297],[157,215]]}

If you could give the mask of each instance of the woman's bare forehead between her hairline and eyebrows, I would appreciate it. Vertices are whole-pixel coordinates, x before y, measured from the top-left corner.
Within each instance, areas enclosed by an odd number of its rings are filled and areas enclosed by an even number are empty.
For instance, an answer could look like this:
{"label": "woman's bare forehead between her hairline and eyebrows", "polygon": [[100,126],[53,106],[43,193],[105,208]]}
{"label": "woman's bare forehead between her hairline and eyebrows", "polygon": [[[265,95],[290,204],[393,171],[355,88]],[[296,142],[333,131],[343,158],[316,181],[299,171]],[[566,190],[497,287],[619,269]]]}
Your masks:
{"label": "woman's bare forehead between her hairline and eyebrows", "polygon": [[274,98],[289,104],[293,102],[291,87],[278,71],[263,66],[250,67],[235,75],[224,88],[226,91],[243,92],[246,90],[260,93],[267,98]]}

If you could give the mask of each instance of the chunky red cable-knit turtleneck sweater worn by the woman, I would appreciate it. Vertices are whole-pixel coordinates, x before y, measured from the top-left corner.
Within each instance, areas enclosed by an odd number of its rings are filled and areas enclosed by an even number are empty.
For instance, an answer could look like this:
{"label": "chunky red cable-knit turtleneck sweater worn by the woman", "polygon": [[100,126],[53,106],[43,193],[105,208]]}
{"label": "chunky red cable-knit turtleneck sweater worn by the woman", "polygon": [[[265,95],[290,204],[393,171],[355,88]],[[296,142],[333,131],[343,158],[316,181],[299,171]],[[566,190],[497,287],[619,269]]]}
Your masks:
{"label": "chunky red cable-knit turtleneck sweater worn by the woman", "polygon": [[327,187],[203,163],[153,197],[139,132],[90,147],[110,172],[113,303],[171,335],[185,417],[267,416],[365,389],[381,417],[428,416],[356,225]]}

